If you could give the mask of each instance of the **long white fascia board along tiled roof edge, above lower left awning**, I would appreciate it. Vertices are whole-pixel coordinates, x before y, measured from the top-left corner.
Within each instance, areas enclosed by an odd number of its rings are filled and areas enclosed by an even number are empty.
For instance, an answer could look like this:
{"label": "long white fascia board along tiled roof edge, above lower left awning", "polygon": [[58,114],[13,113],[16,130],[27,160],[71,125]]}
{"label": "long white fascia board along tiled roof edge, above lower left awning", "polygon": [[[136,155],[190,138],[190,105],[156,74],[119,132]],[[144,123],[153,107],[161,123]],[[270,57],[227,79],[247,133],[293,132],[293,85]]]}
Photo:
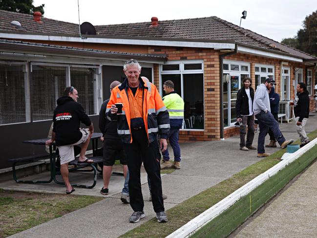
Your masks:
{"label": "long white fascia board along tiled roof edge, above lower left awning", "polygon": [[67,37],[67,36],[42,36],[0,33],[0,38],[25,39],[40,41],[59,42],[83,42],[83,43],[107,43],[107,44],[133,44],[133,45],[157,45],[157,46],[177,46],[177,47],[197,47],[197,48],[221,48],[234,49],[234,43],[213,43],[213,42],[186,42],[186,41],[159,41],[159,40],[133,40],[133,39],[111,39],[111,38],[87,38]]}

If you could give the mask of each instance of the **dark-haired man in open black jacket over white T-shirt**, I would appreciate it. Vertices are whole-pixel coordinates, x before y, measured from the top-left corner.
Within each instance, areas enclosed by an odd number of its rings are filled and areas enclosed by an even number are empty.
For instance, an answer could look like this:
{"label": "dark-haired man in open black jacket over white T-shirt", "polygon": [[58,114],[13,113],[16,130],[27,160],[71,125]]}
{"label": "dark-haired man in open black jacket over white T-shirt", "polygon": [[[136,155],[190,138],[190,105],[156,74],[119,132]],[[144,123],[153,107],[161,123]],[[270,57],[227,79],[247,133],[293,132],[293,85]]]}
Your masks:
{"label": "dark-haired man in open black jacket over white T-shirt", "polygon": [[[235,102],[235,111],[237,114],[237,122],[240,124],[240,150],[249,151],[256,150],[252,146],[254,138],[254,114],[253,114],[253,100],[254,89],[251,87],[251,78],[244,78],[243,87],[241,87],[237,93],[237,99]],[[245,135],[248,134],[247,142]]]}

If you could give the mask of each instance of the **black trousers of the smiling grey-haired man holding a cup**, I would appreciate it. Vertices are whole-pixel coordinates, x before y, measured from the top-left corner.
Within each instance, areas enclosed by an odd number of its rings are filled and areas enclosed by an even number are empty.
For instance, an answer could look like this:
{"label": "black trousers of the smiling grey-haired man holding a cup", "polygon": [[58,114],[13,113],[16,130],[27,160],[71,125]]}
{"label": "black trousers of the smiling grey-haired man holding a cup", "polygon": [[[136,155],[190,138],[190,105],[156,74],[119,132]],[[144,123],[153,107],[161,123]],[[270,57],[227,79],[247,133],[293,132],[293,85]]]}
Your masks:
{"label": "black trousers of the smiling grey-haired man holding a cup", "polygon": [[133,211],[143,211],[144,201],[141,190],[140,169],[143,161],[144,168],[151,180],[151,194],[154,211],[163,212],[162,181],[160,158],[157,158],[158,143],[148,143],[145,129],[131,130],[132,143],[124,144],[129,168],[129,195]]}

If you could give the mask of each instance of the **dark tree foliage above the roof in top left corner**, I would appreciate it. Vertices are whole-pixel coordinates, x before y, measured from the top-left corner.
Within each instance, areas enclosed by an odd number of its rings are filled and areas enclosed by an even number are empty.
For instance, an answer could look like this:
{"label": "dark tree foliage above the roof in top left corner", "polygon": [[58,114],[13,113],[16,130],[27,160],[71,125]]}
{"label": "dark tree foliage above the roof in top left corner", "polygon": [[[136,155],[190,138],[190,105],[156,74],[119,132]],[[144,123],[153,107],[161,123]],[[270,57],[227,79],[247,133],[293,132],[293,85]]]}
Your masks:
{"label": "dark tree foliage above the roof in top left corner", "polygon": [[33,0],[0,0],[0,9],[9,12],[19,12],[26,14],[33,14],[39,11],[44,15],[44,4],[34,6]]}

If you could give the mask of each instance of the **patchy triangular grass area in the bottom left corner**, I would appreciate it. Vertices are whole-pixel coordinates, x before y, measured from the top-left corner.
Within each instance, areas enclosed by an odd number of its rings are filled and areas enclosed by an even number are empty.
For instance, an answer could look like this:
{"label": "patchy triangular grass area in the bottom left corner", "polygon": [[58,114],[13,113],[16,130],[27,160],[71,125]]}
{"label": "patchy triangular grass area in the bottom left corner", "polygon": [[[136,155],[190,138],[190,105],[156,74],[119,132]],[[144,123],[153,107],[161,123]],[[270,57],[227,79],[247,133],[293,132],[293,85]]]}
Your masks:
{"label": "patchy triangular grass area in the bottom left corner", "polygon": [[104,198],[0,189],[0,238],[40,225],[102,199]]}

